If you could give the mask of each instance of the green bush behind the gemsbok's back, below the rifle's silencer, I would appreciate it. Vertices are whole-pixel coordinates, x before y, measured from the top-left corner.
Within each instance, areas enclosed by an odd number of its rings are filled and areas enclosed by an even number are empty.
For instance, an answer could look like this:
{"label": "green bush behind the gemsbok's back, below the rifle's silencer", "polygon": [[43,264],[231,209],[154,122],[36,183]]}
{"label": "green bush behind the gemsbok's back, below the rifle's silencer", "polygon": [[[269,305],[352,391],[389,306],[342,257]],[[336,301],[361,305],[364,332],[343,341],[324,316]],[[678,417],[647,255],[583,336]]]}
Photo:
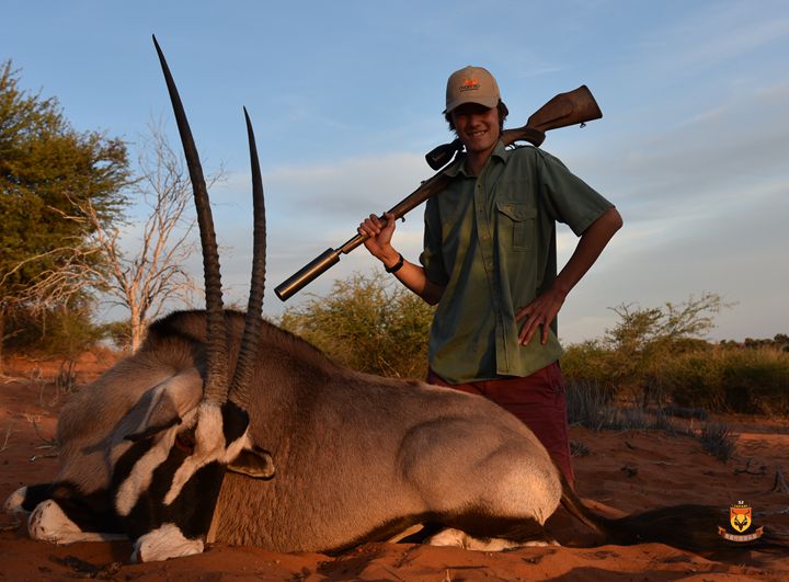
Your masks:
{"label": "green bush behind the gemsbok's back, below the rifle's silencer", "polygon": [[288,308],[283,328],[354,369],[423,378],[433,308],[377,270],[335,281],[325,297]]}

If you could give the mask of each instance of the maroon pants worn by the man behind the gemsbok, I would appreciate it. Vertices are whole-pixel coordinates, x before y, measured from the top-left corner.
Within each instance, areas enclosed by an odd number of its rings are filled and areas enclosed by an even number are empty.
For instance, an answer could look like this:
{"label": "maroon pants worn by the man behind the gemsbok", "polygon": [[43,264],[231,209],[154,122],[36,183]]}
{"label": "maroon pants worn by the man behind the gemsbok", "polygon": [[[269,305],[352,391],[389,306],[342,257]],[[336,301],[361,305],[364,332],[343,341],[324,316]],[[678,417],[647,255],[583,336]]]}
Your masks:
{"label": "maroon pants worn by the man behind the gemsbok", "polygon": [[472,395],[481,395],[517,416],[540,440],[572,487],[575,478],[570,457],[564,378],[553,363],[523,378],[499,378],[469,384],[448,384],[433,370],[427,381]]}

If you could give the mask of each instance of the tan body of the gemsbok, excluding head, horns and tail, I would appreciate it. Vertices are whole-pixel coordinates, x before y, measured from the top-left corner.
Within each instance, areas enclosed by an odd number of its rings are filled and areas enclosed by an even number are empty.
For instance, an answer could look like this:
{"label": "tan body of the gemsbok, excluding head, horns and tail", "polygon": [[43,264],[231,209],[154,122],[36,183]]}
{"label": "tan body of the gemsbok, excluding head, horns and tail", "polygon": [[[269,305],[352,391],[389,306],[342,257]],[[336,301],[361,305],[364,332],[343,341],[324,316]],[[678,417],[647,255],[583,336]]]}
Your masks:
{"label": "tan body of the gemsbok, excluding head, horns and tail", "polygon": [[[226,318],[235,354],[243,317]],[[137,354],[73,398],[58,424],[58,482],[84,499],[106,487],[132,446],[125,437],[151,422],[157,389],[167,391],[158,406],[171,401],[181,415],[197,404],[205,329],[202,311],[156,322]],[[562,483],[548,453],[481,397],[343,368],[270,323],[251,386],[250,436],[271,453],[276,476],[225,477],[219,541],[331,551],[424,522],[526,540],[541,537],[559,505]]]}

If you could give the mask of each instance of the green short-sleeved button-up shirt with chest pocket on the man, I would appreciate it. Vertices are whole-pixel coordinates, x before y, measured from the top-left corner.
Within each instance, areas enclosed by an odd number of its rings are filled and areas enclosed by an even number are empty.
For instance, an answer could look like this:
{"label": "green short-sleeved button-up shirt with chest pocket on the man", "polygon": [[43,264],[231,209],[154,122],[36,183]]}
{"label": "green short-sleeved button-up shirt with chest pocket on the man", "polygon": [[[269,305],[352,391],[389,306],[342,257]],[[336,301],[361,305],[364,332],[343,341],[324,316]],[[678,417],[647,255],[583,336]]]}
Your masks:
{"label": "green short-sleeved button-up shirt with chest pocket on the man", "polygon": [[553,156],[500,141],[479,176],[465,158],[449,186],[427,201],[427,278],[445,288],[431,328],[428,360],[450,384],[528,376],[562,353],[556,322],[548,343],[518,344],[515,312],[557,276],[556,221],[583,233],[613,205]]}

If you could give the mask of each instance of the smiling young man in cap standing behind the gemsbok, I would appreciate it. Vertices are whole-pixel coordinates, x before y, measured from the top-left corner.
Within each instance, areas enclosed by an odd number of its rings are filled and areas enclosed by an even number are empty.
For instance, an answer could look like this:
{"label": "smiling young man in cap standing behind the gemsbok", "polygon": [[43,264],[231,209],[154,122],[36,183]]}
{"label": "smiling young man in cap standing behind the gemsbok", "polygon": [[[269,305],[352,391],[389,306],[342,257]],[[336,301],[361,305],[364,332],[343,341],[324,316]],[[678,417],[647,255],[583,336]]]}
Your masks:
{"label": "smiling young man in cap standing behind the gemsbok", "polygon": [[[556,318],[622,220],[614,206],[557,158],[505,149],[507,110],[483,68],[447,82],[449,127],[465,153],[449,186],[427,201],[421,264],[391,244],[395,220],[370,215],[358,232],[387,272],[431,305],[428,381],[480,393],[526,423],[568,481],[573,471]],[[580,237],[557,274],[556,221]]]}

